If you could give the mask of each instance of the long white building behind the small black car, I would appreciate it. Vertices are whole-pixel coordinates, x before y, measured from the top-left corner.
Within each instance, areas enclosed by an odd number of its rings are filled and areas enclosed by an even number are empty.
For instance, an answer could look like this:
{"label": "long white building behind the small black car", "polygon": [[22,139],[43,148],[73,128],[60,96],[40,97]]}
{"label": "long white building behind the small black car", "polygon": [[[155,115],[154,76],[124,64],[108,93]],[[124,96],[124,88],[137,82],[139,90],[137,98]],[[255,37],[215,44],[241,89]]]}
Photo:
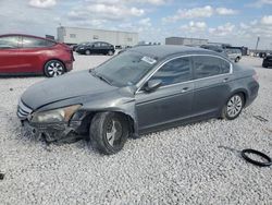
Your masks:
{"label": "long white building behind the small black car", "polygon": [[114,46],[135,46],[138,44],[138,33],[106,31],[79,27],[60,26],[57,28],[58,40],[67,45],[83,41],[107,41]]}

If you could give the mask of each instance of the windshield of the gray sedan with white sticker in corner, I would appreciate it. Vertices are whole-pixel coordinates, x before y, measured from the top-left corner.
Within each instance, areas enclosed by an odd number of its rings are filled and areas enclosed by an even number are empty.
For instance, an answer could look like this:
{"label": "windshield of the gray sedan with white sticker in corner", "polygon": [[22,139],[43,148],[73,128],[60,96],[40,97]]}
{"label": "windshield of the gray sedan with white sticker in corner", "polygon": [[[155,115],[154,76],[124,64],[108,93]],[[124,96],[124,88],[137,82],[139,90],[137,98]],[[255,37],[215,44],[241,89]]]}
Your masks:
{"label": "windshield of the gray sedan with white sticker in corner", "polygon": [[95,73],[115,86],[135,85],[157,63],[151,57],[127,51],[95,69]]}

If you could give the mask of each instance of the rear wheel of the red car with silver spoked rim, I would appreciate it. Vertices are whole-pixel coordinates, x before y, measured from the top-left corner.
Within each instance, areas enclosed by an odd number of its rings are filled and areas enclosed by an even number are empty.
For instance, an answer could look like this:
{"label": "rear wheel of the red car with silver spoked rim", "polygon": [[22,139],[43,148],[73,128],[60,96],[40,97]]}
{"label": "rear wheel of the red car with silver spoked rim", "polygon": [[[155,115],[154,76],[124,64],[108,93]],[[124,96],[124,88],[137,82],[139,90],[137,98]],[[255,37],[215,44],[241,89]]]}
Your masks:
{"label": "rear wheel of the red car with silver spoked rim", "polygon": [[65,73],[64,64],[59,60],[50,60],[45,64],[44,68],[45,74],[48,77],[54,77]]}

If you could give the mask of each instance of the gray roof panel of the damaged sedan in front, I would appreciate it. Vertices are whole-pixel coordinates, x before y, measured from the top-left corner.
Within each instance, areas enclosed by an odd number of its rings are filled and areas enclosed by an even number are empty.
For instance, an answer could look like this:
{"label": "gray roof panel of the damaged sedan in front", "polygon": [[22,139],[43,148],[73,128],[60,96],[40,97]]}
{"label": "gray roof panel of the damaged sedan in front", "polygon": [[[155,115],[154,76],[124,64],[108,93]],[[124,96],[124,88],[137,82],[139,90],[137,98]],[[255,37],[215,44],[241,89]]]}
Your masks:
{"label": "gray roof panel of the damaged sedan in front", "polygon": [[207,50],[198,47],[188,47],[188,46],[172,46],[172,45],[160,45],[160,46],[138,46],[129,49],[131,51],[140,52],[144,55],[151,56],[157,59],[164,59],[170,56],[175,55],[193,55],[193,53],[205,53],[205,55],[213,55],[213,56],[220,56],[222,55],[212,51]]}

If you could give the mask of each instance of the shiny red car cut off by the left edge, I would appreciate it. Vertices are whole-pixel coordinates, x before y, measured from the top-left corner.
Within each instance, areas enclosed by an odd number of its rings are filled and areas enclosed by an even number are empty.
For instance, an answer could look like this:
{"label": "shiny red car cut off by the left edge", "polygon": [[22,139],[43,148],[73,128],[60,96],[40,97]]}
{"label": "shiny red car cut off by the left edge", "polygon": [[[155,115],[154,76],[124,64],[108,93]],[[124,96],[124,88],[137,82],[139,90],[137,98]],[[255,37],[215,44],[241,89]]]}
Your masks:
{"label": "shiny red car cut off by the left edge", "polygon": [[30,35],[0,35],[0,75],[61,75],[73,69],[73,51],[64,44]]}

